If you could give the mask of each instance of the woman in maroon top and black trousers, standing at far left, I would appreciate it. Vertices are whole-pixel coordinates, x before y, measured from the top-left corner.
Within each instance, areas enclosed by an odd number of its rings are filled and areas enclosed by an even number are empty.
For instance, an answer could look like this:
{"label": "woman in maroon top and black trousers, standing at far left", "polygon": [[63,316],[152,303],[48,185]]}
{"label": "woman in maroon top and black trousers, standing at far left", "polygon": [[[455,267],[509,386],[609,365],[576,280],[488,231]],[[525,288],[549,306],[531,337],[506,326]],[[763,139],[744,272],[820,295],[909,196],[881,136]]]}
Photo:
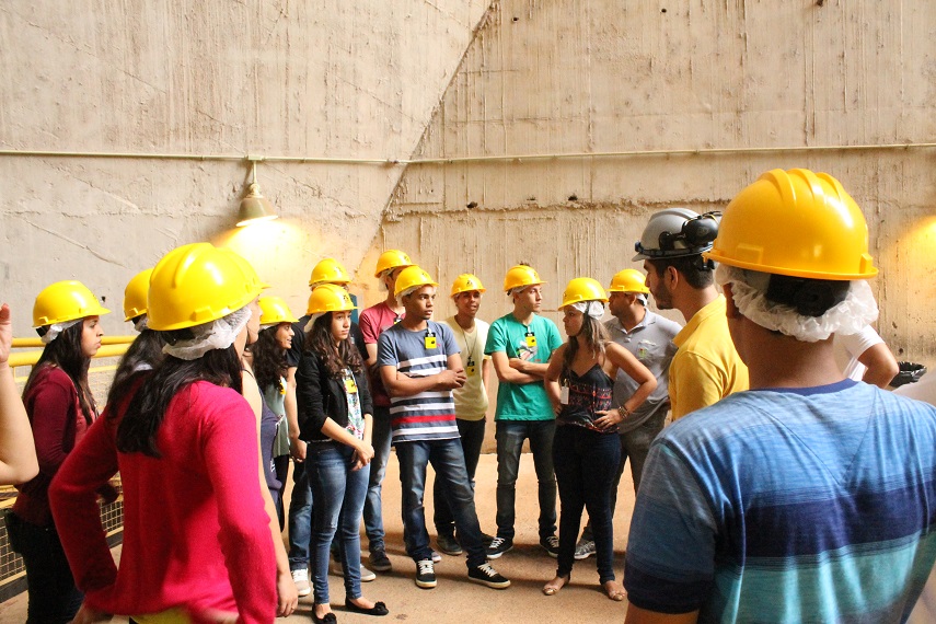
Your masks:
{"label": "woman in maroon top and black trousers, standing at far left", "polygon": [[[53,284],[39,292],[33,307],[34,326],[46,346],[26,381],[23,403],[33,427],[39,474],[19,487],[7,519],[13,548],[26,566],[30,624],[69,622],[81,606],[82,593],[74,587],[53,523],[48,487],[97,418],[88,368],[104,335],[99,316],[108,312],[79,281]],[[116,492],[109,488],[106,497],[113,501]]]}

